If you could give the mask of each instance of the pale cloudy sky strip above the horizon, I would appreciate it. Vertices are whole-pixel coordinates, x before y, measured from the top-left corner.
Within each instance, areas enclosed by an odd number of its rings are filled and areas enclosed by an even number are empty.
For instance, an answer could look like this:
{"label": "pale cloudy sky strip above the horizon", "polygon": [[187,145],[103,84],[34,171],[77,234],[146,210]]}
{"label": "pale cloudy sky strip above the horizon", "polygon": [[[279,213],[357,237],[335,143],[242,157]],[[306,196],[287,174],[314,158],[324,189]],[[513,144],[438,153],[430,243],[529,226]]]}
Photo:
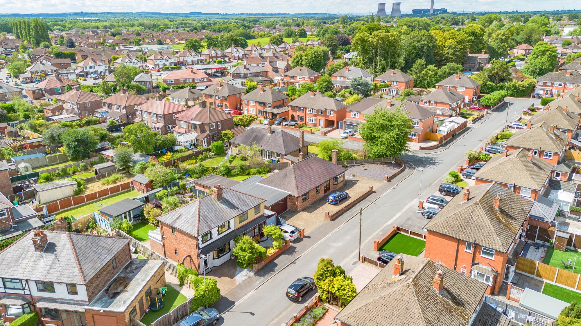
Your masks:
{"label": "pale cloudy sky strip above the horizon", "polygon": [[[411,12],[414,8],[429,8],[429,1],[401,2],[401,12]],[[259,6],[259,3],[269,5]],[[500,10],[562,10],[580,8],[579,2],[572,0],[515,0],[515,1],[438,1],[435,8],[447,8],[449,11],[500,11]],[[284,0],[265,2],[257,0],[99,0],[99,1],[62,1],[62,0],[0,0],[2,13],[54,13],[54,12],[218,12],[218,13],[303,13],[303,12],[333,12],[333,13],[369,13],[376,12],[375,1],[312,1]],[[386,3],[389,13],[391,2]]]}

